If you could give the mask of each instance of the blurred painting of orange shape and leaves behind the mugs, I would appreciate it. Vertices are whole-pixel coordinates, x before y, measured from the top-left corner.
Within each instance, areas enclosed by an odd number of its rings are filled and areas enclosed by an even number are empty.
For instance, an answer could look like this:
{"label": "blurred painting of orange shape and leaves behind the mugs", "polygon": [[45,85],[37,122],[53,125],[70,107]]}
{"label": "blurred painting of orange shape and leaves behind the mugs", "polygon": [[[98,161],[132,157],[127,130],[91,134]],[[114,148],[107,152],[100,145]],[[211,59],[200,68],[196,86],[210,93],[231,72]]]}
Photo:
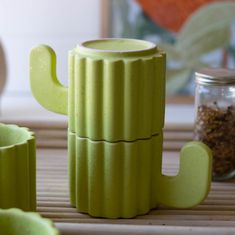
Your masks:
{"label": "blurred painting of orange shape and leaves behind the mugs", "polygon": [[107,2],[109,35],[149,40],[166,51],[168,96],[192,96],[201,67],[234,68],[234,0]]}

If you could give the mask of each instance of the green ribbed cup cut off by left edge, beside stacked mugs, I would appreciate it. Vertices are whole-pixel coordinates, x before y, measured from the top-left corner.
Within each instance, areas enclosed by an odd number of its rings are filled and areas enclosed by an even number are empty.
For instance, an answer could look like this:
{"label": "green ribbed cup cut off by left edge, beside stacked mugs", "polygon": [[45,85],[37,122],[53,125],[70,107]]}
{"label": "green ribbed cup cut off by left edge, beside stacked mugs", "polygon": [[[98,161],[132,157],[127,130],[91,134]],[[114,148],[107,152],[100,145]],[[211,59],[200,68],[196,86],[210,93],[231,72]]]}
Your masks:
{"label": "green ribbed cup cut off by left edge, beside stacked mugs", "polygon": [[31,131],[0,124],[0,208],[36,210],[35,152]]}

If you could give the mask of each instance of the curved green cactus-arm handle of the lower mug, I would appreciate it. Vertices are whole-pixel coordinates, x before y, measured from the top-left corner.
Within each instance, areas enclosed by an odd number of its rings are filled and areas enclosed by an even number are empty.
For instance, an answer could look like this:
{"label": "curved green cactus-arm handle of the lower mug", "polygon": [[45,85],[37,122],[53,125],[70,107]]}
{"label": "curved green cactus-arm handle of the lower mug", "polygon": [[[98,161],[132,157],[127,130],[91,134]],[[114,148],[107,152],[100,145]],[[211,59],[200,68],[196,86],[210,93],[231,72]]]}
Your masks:
{"label": "curved green cactus-arm handle of the lower mug", "polygon": [[175,208],[190,208],[205,199],[211,183],[211,150],[203,143],[187,143],[180,153],[177,176],[160,176],[158,201]]}

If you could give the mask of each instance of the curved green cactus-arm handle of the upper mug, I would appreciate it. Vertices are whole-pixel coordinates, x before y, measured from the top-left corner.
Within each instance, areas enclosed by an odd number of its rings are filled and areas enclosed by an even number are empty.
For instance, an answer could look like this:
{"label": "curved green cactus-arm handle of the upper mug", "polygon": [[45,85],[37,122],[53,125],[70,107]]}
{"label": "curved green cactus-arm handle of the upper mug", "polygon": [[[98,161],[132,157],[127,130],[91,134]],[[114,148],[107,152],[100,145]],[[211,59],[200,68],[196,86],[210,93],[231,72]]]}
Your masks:
{"label": "curved green cactus-arm handle of the upper mug", "polygon": [[52,48],[40,45],[30,52],[30,85],[34,97],[46,109],[67,114],[68,89],[56,76],[56,55]]}

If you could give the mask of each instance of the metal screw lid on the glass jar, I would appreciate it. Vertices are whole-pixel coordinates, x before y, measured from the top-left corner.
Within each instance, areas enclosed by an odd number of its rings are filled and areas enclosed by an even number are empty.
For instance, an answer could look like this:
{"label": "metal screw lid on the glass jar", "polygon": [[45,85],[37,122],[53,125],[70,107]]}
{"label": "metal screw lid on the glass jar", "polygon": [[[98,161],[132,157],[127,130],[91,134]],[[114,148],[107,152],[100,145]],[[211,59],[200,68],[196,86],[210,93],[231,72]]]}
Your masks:
{"label": "metal screw lid on the glass jar", "polygon": [[227,68],[203,68],[195,73],[195,80],[203,85],[235,84],[235,70]]}

